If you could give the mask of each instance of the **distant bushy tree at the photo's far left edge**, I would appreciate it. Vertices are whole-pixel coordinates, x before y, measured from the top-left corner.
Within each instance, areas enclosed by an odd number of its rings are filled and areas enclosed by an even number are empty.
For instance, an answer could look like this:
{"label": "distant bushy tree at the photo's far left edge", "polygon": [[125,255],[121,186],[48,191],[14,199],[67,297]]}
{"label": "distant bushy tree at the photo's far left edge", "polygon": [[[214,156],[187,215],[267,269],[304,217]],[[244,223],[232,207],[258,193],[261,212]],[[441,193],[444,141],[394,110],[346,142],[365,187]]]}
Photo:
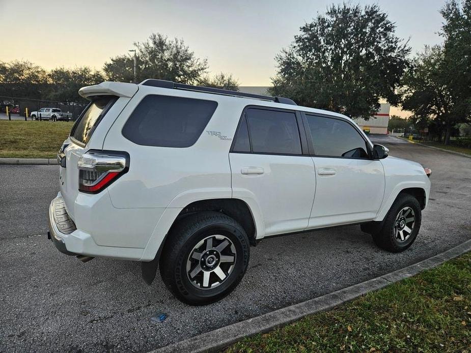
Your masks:
{"label": "distant bushy tree at the photo's far left edge", "polygon": [[0,63],[0,96],[40,99],[47,83],[46,70],[29,61]]}

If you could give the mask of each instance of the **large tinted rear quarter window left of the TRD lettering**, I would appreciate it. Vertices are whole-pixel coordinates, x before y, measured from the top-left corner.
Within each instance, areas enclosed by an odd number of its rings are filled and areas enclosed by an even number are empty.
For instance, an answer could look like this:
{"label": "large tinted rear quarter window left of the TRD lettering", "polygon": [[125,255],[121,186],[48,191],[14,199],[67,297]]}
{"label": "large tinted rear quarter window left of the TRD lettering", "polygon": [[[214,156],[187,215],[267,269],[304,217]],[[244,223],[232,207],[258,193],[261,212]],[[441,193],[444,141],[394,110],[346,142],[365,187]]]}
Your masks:
{"label": "large tinted rear quarter window left of the TRD lettering", "polygon": [[149,95],[129,116],[123,136],[147,146],[189,147],[198,140],[216,107],[214,101]]}

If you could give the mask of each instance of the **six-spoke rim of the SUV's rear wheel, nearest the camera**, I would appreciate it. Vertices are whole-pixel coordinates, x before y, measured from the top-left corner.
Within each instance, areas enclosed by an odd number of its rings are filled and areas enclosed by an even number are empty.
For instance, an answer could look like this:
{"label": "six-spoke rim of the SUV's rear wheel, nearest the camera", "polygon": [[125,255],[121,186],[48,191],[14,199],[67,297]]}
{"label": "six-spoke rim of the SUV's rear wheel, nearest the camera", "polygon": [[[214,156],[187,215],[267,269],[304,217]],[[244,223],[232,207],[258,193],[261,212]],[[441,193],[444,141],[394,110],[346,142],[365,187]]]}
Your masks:
{"label": "six-spoke rim of the SUV's rear wheel, nearest the camera", "polygon": [[188,255],[186,274],[199,289],[212,289],[224,283],[234,270],[236,248],[226,236],[217,234],[200,241]]}

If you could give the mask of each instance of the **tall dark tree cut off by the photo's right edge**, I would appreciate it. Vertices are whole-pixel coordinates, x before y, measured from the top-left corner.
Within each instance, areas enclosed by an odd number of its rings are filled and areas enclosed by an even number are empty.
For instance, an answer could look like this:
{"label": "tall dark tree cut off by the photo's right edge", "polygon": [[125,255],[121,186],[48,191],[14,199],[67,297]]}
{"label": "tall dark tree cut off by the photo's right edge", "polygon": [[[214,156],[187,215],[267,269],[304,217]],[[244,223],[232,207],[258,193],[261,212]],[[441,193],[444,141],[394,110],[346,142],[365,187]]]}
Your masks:
{"label": "tall dark tree cut off by the photo's right edge", "polygon": [[445,19],[443,45],[425,47],[405,75],[403,107],[433,122],[449,144],[454,126],[471,119],[471,0],[451,0],[440,11]]}

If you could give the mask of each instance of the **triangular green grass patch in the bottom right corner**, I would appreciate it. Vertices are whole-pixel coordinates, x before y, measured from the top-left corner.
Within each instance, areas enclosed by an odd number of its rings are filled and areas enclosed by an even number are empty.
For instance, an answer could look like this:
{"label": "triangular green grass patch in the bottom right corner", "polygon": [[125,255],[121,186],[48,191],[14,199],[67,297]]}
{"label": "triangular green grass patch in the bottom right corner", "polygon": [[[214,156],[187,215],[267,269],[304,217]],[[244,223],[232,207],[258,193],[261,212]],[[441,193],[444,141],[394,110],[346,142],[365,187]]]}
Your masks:
{"label": "triangular green grass patch in the bottom right corner", "polygon": [[471,352],[471,253],[226,352]]}

